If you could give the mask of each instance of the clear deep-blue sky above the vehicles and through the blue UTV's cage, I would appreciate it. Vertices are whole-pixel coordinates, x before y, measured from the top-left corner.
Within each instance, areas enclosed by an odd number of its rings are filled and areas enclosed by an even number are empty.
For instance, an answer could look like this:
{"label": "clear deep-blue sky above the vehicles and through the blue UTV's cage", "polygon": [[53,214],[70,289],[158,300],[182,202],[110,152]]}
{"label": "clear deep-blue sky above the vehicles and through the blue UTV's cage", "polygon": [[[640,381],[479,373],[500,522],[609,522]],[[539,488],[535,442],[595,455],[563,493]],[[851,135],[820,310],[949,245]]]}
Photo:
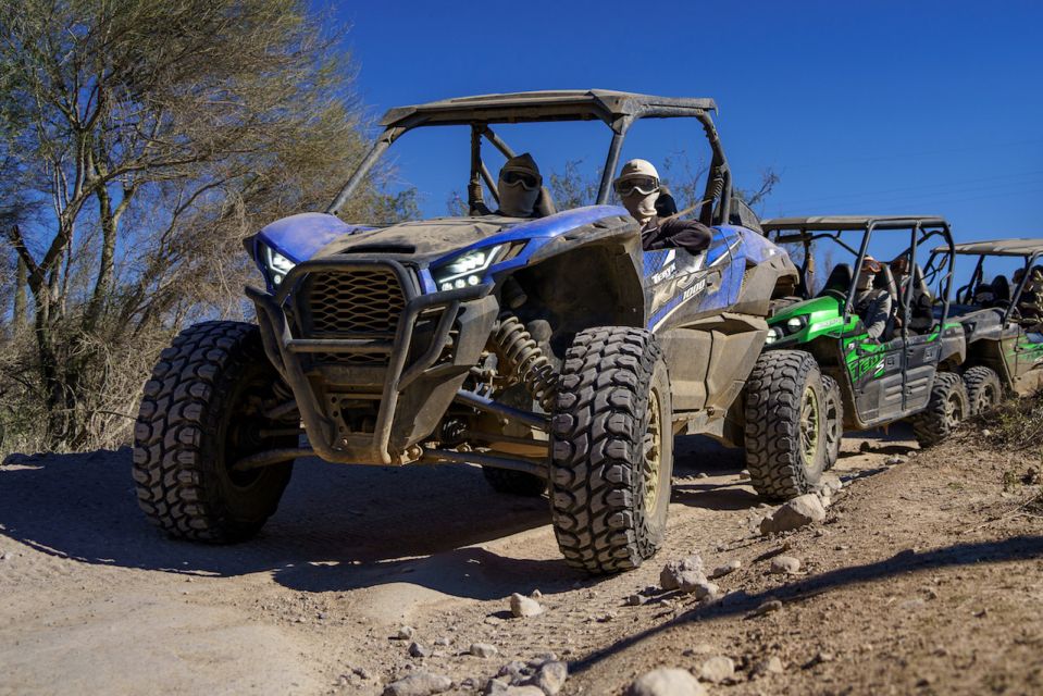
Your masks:
{"label": "clear deep-blue sky above the vehicles and through the blue UTV's cage", "polygon": [[[766,216],[930,213],[959,239],[1043,235],[1043,2],[406,0],[335,13],[374,113],[548,88],[712,97],[737,184],[781,176]],[[705,141],[685,128],[649,127],[624,158],[697,159]],[[401,176],[444,213],[463,188],[465,139],[408,138]],[[607,141],[604,126],[573,124],[523,147],[545,171],[593,170]]]}

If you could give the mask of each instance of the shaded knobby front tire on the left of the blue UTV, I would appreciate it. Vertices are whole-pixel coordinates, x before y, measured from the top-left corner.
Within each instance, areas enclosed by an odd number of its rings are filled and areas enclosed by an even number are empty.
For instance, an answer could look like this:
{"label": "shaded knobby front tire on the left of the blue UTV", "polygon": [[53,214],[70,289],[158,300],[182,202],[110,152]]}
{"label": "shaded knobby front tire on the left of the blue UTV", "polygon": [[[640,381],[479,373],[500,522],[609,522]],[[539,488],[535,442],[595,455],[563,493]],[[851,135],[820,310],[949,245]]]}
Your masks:
{"label": "shaded knobby front tire on the left of the blue UTV", "polygon": [[150,522],[175,537],[239,542],[254,535],[278,505],[293,462],[233,472],[239,458],[297,447],[295,430],[260,413],[276,403],[278,381],[258,327],[204,322],[183,331],[145,385],[134,428],[134,481]]}

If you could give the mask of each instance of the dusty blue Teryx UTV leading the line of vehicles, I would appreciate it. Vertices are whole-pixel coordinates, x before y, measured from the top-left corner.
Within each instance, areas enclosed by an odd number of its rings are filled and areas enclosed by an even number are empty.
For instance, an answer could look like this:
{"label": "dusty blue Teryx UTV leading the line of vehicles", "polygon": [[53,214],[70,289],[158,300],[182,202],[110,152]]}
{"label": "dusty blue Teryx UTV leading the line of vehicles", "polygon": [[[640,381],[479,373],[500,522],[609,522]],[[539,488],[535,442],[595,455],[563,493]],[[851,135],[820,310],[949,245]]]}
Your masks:
{"label": "dusty blue Teryx UTV leading the line of vehicles", "polygon": [[[549,486],[558,545],[576,568],[616,572],[653,556],[673,436],[743,446],[743,389],[769,302],[797,283],[733,195],[715,109],[710,99],[572,90],[388,111],[326,212],[247,240],[265,281],[246,290],[257,323],[200,323],[163,351],[135,431],[146,515],[174,536],[235,542],[275,511],[297,458],[457,462],[481,465],[498,492]],[[607,204],[628,130],[672,117],[698,122],[712,153],[695,207],[713,228],[705,252],[644,252],[634,219]],[[494,126],[559,121],[611,129],[596,204],[557,212],[544,189],[535,219],[476,214],[496,197],[483,144],[514,156]],[[454,126],[470,129],[471,215],[392,225],[337,216],[396,140]],[[799,409],[778,418],[798,427]],[[824,447],[823,423],[803,427]],[[758,446],[787,472],[804,465],[795,442]]]}

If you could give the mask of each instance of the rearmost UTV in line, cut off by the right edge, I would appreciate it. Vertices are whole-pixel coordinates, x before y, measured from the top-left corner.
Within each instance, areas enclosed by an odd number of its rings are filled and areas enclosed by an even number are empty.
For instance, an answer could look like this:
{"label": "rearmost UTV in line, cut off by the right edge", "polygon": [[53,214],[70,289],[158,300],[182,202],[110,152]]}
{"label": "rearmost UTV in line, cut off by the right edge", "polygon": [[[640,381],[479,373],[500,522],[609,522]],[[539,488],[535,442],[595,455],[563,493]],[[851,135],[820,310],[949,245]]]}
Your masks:
{"label": "rearmost UTV in line, cut off by the right edge", "polygon": [[[953,306],[953,319],[963,325],[967,343],[959,369],[973,414],[1043,385],[1040,291],[1031,285],[1034,273],[1043,273],[1043,239],[971,241],[956,245],[955,251],[957,258],[976,259]],[[945,249],[934,253],[944,254]],[[999,272],[1011,269],[1010,278]]]}

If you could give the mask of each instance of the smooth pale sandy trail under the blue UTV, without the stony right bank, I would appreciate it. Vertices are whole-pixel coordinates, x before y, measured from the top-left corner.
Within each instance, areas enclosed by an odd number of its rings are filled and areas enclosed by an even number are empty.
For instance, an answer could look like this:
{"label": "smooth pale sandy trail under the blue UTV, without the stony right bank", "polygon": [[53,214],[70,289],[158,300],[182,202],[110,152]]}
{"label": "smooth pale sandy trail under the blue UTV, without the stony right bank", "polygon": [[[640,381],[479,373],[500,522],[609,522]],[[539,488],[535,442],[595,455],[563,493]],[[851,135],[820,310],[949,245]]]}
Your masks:
{"label": "smooth pale sandy trail under the blue UTV, without the stony right bank", "polygon": [[[837,473],[883,471],[903,436],[868,455],[847,440]],[[545,499],[495,494],[473,468],[302,461],[260,537],[208,547],[144,521],[127,450],[22,460],[0,469],[0,694],[369,694],[421,666],[481,680],[546,650],[582,666],[675,610],[620,608],[658,561],[728,560],[765,512],[737,451],[681,438],[676,459],[668,547],[600,580],[560,560]],[[548,612],[509,620],[510,593],[536,588]],[[402,624],[434,654],[389,641]],[[500,655],[461,655],[479,641]]]}

